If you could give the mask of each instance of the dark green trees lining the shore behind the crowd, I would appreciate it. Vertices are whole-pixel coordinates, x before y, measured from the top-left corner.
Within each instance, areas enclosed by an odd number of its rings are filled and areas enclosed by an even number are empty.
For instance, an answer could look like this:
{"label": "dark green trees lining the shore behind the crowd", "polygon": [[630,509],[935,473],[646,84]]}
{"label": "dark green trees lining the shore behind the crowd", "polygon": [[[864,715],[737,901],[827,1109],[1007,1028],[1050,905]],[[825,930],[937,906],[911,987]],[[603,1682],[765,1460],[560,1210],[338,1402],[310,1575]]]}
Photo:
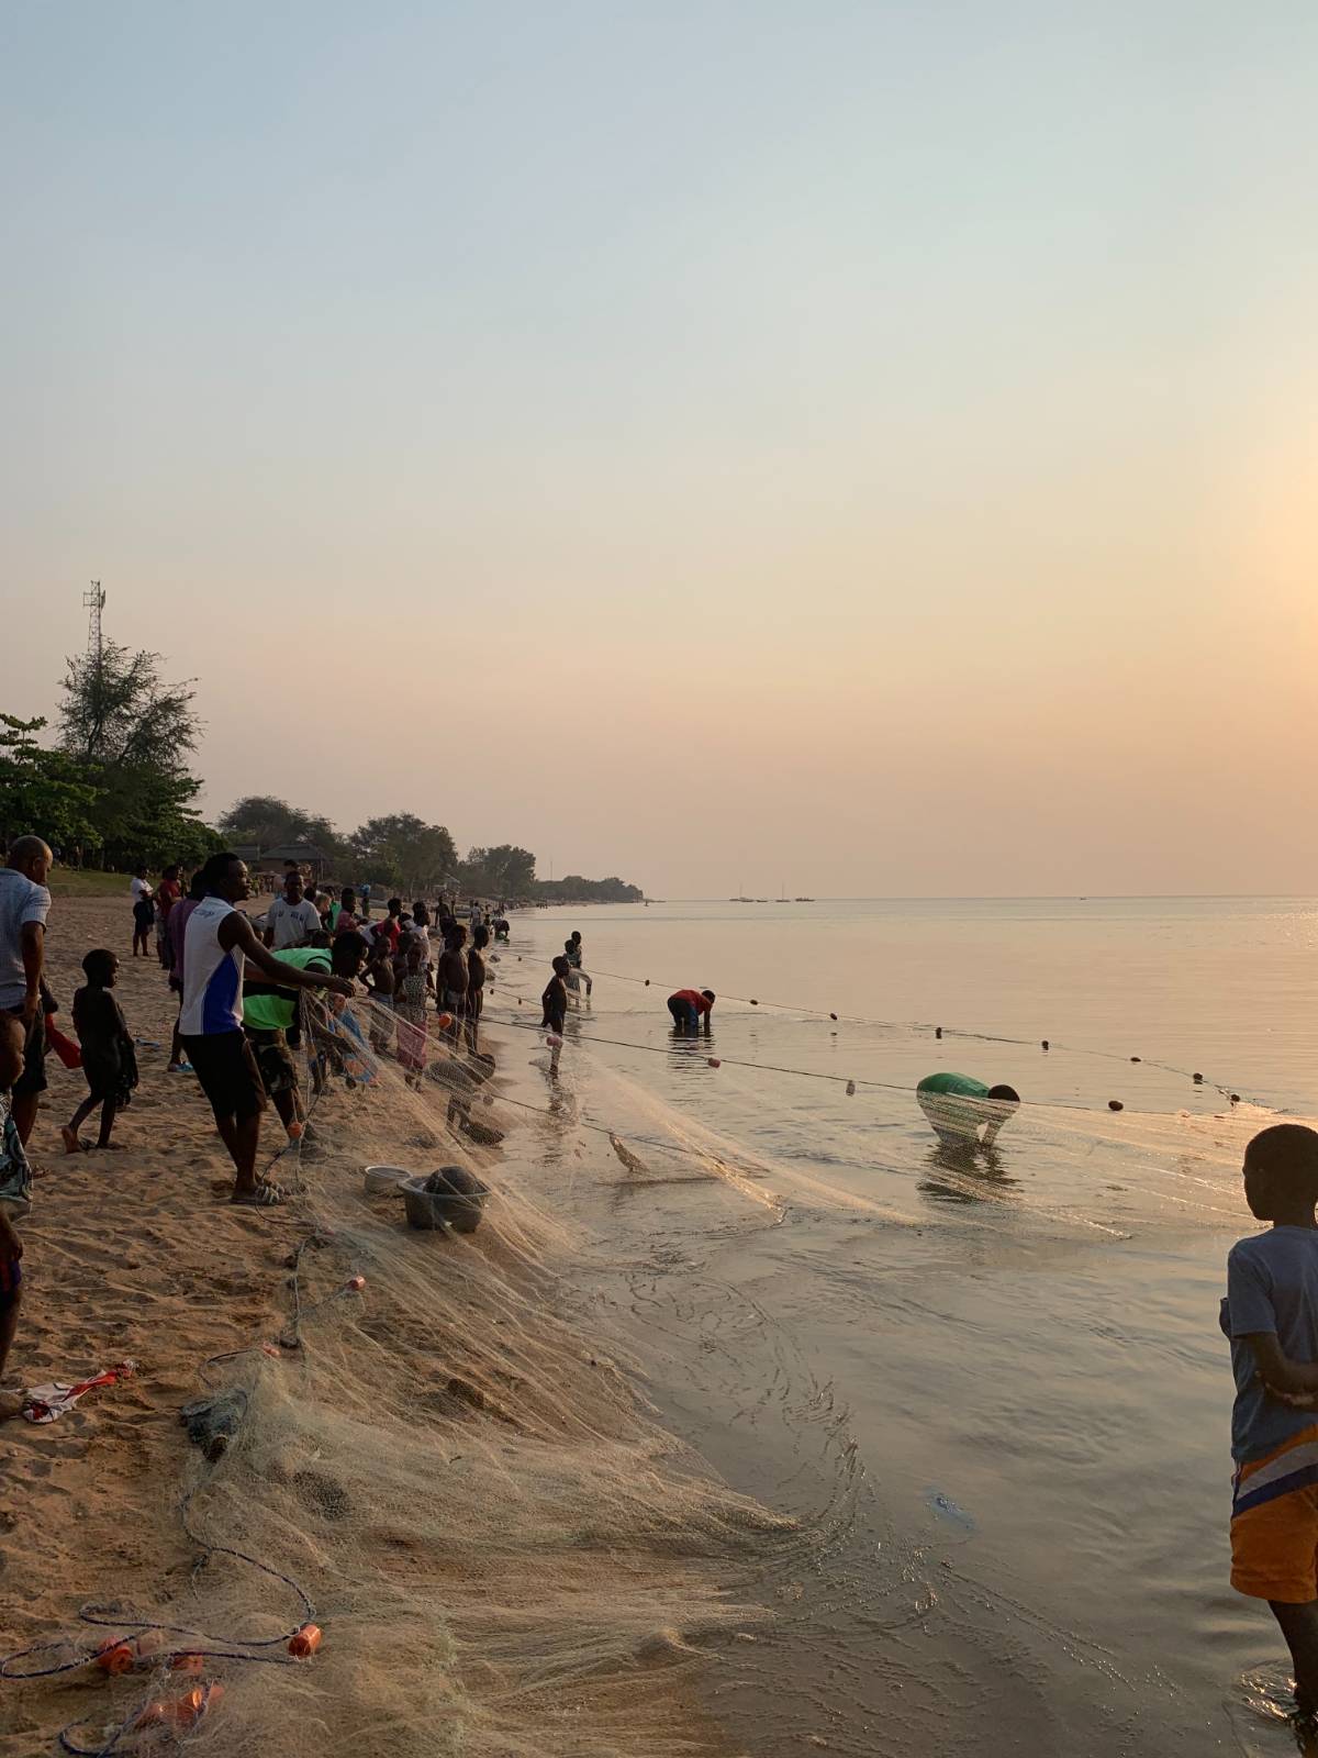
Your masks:
{"label": "dark green trees lining the shore behind the crowd", "polygon": [[47,721],[0,712],[0,837],[42,835],[70,867],[127,872],[195,867],[225,844],[260,853],[315,844],[344,881],[408,897],[429,888],[467,897],[640,900],[620,879],[536,879],[536,856],[511,842],[459,856],[445,825],[415,812],[371,817],[341,835],[329,817],[274,795],[246,795],[202,821],[190,759],[202,737],[193,680],[167,684],[160,654],[104,642],[67,661],[53,744]]}

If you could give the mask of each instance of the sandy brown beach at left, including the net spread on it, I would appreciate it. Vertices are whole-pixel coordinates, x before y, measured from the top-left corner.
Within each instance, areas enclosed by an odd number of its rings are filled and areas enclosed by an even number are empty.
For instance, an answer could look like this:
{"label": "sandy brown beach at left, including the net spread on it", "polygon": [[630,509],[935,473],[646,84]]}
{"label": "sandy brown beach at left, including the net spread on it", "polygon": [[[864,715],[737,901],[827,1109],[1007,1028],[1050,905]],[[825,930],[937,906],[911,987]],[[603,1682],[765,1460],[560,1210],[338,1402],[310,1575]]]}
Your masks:
{"label": "sandy brown beach at left, including the net spread on it", "polygon": [[[293,1204],[232,1208],[209,1109],[165,1072],[172,999],[128,937],[127,902],[56,898],[60,1023],[81,956],[111,946],[130,1028],[155,1042],[118,1153],[65,1157],[84,1086],[49,1058],[11,1377],[137,1368],[51,1426],[0,1429],[5,1647],[40,1649],[11,1672],[67,1668],[0,1686],[0,1754],[47,1751],[67,1725],[84,1751],[156,1739],[134,1728],[142,1704],[195,1679],[149,1654],[119,1679],[88,1665],[105,1637],[156,1623],[148,1647],[202,1651],[223,1686],[197,1730],[216,1751],[724,1749],[692,1644],[752,1621],[726,1586],[777,1522],[564,1322],[555,1224],[520,1195],[532,1132],[492,1097],[480,1115],[506,1141],[459,1144],[439,1081],[332,1090]],[[490,1048],[503,1085],[527,1046],[496,1032]],[[269,1113],[271,1151],[279,1134]],[[478,1167],[487,1224],[409,1232],[397,1199],[362,1190],[378,1160]],[[244,1399],[218,1463],[179,1422],[204,1385]],[[88,1603],[102,1623],[79,1621]],[[325,1642],[293,1663],[308,1603]]]}

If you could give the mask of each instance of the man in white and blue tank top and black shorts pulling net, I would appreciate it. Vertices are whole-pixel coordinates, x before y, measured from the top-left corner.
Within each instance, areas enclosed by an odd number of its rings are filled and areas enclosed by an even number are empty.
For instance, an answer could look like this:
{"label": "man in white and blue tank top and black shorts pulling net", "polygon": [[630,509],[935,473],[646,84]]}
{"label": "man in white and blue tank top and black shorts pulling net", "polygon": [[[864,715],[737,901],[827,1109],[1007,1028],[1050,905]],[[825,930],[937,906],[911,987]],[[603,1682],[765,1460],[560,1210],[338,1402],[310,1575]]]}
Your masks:
{"label": "man in white and blue tank top and black shorts pulling net", "polygon": [[355,984],[320,970],[297,970],[260,944],[248,918],[234,907],[251,897],[248,868],[237,854],[213,854],[202,868],[202,884],[206,897],[188,918],[183,937],[183,1044],[234,1160],[234,1202],[271,1208],[283,1202],[285,1194],[257,1178],[265,1088],[243,1034],[246,962],[250,958],[281,988],[353,995]]}

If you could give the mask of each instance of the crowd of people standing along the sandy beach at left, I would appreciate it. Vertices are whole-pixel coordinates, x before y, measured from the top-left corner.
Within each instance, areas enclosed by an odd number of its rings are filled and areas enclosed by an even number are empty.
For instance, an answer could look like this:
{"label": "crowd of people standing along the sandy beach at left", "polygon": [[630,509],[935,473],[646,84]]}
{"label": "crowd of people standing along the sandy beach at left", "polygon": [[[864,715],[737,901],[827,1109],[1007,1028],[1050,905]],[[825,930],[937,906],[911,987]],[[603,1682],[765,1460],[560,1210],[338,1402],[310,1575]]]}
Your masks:
{"label": "crowd of people standing along the sandy beach at left", "polygon": [[[32,1206],[28,1143],[47,1088],[47,1053],[56,1048],[86,1078],[86,1095],[60,1127],[70,1155],[119,1146],[114,1123],[139,1085],[137,1041],[114,993],[119,956],[112,948],[84,956],[72,1037],[58,1027],[46,981],[51,861],[47,844],[25,835],[0,867],[0,1387],[21,1303],[16,1222]],[[450,897],[409,905],[392,897],[373,923],[371,890],[344,886],[329,895],[288,861],[281,888],[253,919],[241,907],[253,895],[251,875],[230,853],[213,854],[192,875],[170,865],[153,883],[139,867],[130,879],[132,956],[160,962],[177,1006],[167,1074],[195,1076],[206,1093],[234,1164],[235,1204],[265,1210],[286,1201],[257,1167],[269,1106],[290,1139],[306,1134],[299,1050],[306,1050],[313,1092],[330,1072],[364,1067],[355,1053],[366,1042],[344,1011],[348,997],[369,999],[371,1050],[397,1057],[409,1085],[420,1083],[434,1042],[455,1055],[482,1055],[485,955],[492,941],[510,937],[503,907],[490,912],[473,900],[459,921]],[[97,1129],[84,1139],[83,1127],[97,1111]],[[16,1413],[19,1403],[19,1392],[0,1391],[0,1415]]]}

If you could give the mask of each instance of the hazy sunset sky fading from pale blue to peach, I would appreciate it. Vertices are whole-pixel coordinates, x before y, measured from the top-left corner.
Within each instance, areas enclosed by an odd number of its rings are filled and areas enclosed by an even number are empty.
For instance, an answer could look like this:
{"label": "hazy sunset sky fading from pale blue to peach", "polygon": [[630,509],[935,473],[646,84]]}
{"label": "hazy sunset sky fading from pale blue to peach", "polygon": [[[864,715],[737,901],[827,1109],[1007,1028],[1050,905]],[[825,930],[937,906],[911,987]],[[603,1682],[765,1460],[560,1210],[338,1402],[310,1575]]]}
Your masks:
{"label": "hazy sunset sky fading from pale blue to peach", "polygon": [[654,897],[1313,893],[1307,0],[0,7],[0,707]]}

